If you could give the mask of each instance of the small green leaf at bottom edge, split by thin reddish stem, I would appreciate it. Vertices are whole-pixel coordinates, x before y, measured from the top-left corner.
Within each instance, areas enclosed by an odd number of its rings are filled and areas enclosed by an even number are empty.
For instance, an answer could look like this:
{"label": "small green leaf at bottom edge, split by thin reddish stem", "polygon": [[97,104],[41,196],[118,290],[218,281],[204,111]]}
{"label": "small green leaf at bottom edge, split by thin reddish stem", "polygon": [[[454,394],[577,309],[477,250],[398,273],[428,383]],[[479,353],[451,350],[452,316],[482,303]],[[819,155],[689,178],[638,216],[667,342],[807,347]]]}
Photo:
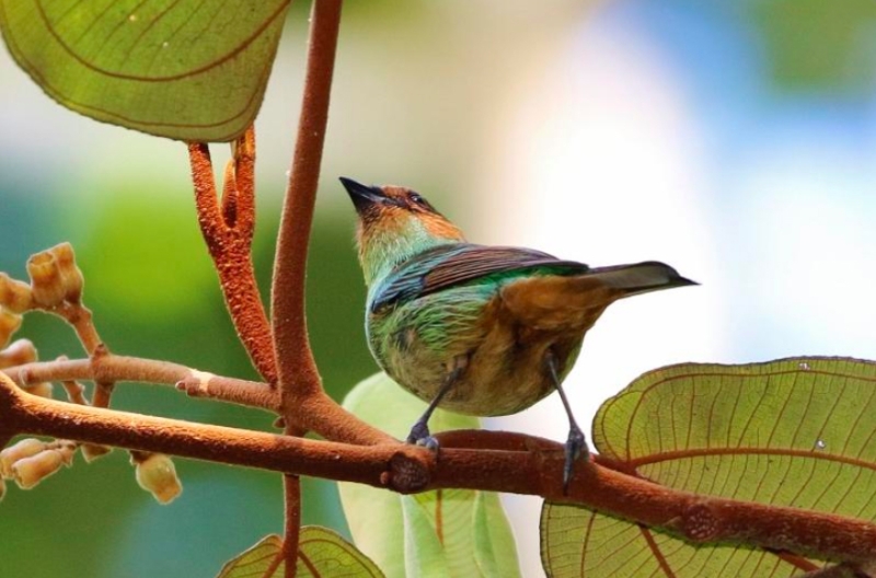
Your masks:
{"label": "small green leaf at bottom edge, split by thin reddish stem", "polygon": [[[280,578],[283,539],[263,537],[253,547],[229,560],[217,578]],[[299,578],[381,578],[383,574],[361,552],[335,532],[316,525],[301,528],[299,536]]]}

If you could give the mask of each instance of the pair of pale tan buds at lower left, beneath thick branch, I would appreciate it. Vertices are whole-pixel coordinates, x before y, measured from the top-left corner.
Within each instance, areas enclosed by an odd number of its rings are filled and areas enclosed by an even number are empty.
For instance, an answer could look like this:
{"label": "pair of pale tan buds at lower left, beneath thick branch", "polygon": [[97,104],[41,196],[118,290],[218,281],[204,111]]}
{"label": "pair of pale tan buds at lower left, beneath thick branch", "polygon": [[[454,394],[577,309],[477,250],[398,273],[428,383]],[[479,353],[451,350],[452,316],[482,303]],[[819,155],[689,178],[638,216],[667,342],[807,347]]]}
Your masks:
{"label": "pair of pale tan buds at lower left, beneath thick branch", "polygon": [[31,489],[62,465],[71,465],[74,453],[72,441],[23,439],[0,452],[0,475],[14,479],[22,489]]}

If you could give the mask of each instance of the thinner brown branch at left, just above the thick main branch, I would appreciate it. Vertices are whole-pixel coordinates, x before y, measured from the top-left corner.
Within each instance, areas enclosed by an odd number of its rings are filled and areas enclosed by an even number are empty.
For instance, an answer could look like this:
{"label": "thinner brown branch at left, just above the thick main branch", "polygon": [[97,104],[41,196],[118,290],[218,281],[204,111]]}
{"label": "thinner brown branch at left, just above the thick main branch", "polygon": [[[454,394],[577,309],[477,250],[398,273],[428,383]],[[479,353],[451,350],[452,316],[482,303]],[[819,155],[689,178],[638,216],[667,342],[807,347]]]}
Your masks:
{"label": "thinner brown branch at left, just above the thick main branch", "polygon": [[188,395],[276,412],[276,391],[265,383],[214,375],[170,361],[107,355],[95,362],[73,359],[25,363],[0,370],[21,388],[44,381],[139,382],[175,385]]}

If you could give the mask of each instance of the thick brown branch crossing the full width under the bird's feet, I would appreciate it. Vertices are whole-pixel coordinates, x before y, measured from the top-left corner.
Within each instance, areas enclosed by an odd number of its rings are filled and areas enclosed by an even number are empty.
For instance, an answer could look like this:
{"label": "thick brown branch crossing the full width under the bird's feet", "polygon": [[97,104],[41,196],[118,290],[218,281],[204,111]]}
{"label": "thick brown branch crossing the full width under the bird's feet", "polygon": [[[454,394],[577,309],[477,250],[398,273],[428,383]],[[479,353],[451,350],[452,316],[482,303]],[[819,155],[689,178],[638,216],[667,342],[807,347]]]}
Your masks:
{"label": "thick brown branch crossing the full width under the bird's feet", "polygon": [[[30,395],[0,377],[3,432],[46,435],[400,492],[469,488],[581,504],[695,543],[748,544],[866,566],[876,524],[840,516],[698,496],[590,463],[563,495],[562,446],[531,451],[350,446],[114,412]],[[541,448],[543,441],[533,447]]]}

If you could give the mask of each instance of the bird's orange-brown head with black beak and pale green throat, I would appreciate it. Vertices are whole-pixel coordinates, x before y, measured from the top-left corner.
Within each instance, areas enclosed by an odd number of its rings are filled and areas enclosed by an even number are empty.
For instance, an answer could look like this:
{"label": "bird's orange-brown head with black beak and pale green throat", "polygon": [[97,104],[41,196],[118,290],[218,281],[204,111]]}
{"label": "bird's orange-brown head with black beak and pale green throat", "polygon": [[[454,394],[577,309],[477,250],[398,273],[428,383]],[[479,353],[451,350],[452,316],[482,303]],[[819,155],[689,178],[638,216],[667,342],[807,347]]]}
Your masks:
{"label": "bird's orange-brown head with black beak and pale green throat", "polygon": [[465,240],[456,224],[410,188],[368,186],[343,176],[341,183],[359,217],[356,241],[369,287],[399,263],[427,248]]}

